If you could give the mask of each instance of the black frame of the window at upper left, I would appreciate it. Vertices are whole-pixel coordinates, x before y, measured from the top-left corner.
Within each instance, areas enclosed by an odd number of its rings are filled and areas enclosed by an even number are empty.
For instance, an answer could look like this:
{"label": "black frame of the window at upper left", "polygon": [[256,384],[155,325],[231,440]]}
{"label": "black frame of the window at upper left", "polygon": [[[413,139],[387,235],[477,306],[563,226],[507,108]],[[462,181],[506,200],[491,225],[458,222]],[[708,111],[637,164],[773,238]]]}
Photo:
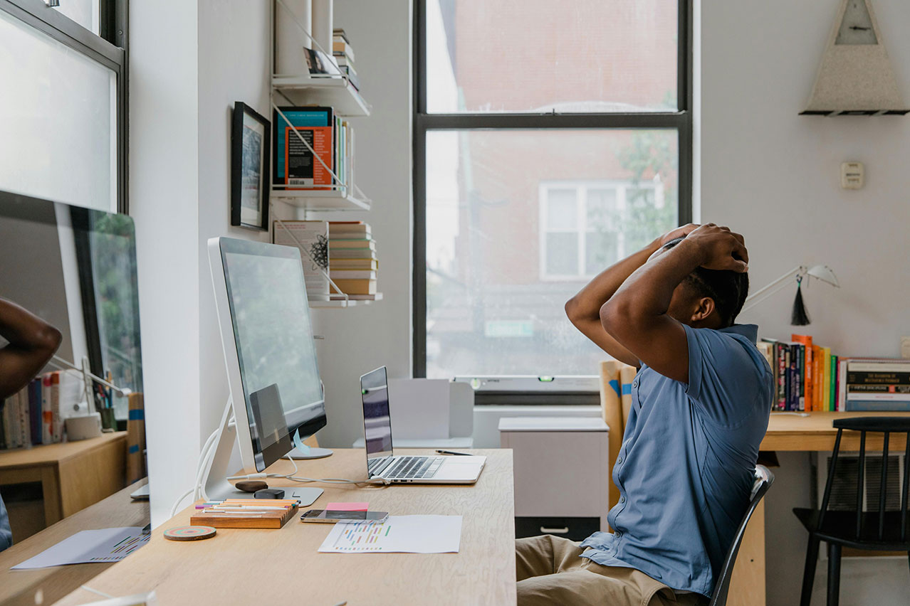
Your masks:
{"label": "black frame of the window at upper left", "polygon": [[99,35],[45,4],[0,0],[0,11],[116,73],[116,212],[129,212],[129,0],[99,1]]}

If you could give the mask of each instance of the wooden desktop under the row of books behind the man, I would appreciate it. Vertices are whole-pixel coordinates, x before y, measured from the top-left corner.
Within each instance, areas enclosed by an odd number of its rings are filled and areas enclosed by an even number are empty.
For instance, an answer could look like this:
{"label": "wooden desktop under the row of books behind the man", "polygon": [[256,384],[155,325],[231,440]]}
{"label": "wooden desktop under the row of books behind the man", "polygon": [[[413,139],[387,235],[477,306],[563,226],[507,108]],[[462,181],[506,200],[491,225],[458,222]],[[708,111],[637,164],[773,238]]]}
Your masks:
{"label": "wooden desktop under the row of books behind the man", "polygon": [[[834,419],[865,416],[910,417],[910,412],[810,412],[805,417],[772,413],[761,448],[763,451],[831,451],[834,450],[834,439],[837,437],[837,430],[832,424]],[[903,439],[892,436],[889,446],[892,452],[897,452],[897,449],[903,449],[904,446]],[[866,447],[881,450],[881,434],[869,433]],[[859,432],[844,432],[841,450],[858,449]]]}

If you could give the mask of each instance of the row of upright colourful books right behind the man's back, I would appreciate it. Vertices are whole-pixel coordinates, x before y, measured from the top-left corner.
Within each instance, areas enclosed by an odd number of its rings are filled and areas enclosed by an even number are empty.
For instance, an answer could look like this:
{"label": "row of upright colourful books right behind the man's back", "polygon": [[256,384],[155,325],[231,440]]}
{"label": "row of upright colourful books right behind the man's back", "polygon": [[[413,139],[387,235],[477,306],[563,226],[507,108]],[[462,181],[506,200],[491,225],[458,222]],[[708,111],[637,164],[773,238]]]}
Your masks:
{"label": "row of upright colourful books right behind the man's back", "polygon": [[763,339],[758,343],[774,375],[773,411],[838,411],[842,395],[840,358],[831,348],[812,342],[807,334],[791,341]]}

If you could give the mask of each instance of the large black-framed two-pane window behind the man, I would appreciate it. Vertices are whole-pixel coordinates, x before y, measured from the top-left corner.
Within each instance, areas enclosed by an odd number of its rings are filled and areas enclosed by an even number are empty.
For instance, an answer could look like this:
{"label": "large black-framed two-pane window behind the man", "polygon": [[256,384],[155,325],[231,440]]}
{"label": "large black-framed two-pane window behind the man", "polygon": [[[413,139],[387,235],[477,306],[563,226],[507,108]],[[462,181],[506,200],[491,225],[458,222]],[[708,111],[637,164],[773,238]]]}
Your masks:
{"label": "large black-framed two-pane window behind the man", "polygon": [[414,373],[596,374],[564,303],[691,218],[689,6],[415,6]]}

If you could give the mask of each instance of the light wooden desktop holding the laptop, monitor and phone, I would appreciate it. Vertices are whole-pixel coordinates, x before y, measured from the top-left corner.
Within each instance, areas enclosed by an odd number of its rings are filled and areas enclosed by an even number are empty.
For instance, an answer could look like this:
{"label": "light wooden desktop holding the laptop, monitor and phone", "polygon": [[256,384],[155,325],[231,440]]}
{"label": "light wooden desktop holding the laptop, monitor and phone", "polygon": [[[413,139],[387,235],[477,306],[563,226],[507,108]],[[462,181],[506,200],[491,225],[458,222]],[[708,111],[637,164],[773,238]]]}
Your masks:
{"label": "light wooden desktop holding the laptop, monitor and phone", "polygon": [[[362,450],[333,449],[328,459],[298,462],[299,475],[364,478]],[[409,451],[402,451],[409,452]],[[429,451],[410,451],[429,452]],[[393,515],[463,515],[458,553],[319,553],[328,524],[291,520],[280,530],[219,529],[206,541],[166,541],[162,531],[188,523],[191,508],[152,532],[146,547],[89,583],[122,596],[157,591],[162,604],[515,604],[515,519],[511,450],[488,457],[473,486],[316,484],[327,502],[368,501]],[[287,461],[269,472],[293,471]],[[293,482],[273,481],[273,486]],[[299,485],[299,484],[298,484]],[[95,594],[76,590],[60,604],[84,604]]]}

